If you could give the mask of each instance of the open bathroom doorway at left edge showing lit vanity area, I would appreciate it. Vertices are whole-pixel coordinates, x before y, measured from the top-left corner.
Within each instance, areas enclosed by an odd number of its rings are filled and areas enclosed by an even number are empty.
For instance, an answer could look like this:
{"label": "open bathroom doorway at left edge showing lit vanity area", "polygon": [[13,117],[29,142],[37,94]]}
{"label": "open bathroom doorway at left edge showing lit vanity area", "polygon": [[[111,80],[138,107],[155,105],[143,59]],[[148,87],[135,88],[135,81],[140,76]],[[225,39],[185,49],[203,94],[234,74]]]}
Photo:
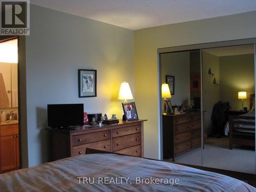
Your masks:
{"label": "open bathroom doorway at left edge showing lit vanity area", "polygon": [[19,169],[18,38],[0,41],[0,173]]}

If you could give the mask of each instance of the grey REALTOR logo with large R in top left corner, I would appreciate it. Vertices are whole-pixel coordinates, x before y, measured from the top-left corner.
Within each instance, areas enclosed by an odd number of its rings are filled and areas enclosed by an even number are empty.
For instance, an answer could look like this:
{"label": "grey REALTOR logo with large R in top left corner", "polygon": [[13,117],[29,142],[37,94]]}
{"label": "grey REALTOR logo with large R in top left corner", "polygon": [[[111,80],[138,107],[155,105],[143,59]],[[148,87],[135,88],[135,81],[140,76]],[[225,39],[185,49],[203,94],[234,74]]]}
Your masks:
{"label": "grey REALTOR logo with large R in top left corner", "polygon": [[1,1],[1,35],[29,35],[29,0]]}

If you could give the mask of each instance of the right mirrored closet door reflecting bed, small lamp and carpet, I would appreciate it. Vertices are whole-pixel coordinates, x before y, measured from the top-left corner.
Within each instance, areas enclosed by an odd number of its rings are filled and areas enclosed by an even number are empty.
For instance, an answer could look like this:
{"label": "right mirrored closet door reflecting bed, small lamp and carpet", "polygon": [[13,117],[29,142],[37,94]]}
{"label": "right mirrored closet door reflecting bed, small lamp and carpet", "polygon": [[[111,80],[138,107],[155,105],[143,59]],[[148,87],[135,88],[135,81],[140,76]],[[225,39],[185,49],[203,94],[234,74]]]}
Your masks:
{"label": "right mirrored closet door reflecting bed, small lamp and carpet", "polygon": [[204,166],[255,173],[253,45],[203,49],[202,68]]}

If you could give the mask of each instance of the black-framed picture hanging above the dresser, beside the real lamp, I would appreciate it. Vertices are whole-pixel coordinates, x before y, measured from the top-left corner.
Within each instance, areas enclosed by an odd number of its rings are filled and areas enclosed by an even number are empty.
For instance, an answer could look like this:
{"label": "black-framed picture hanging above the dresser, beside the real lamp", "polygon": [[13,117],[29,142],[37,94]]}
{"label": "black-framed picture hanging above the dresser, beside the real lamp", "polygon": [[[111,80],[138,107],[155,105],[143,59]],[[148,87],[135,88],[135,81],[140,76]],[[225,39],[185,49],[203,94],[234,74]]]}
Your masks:
{"label": "black-framed picture hanging above the dresser, beside the real lamp", "polygon": [[97,70],[78,70],[79,97],[97,97]]}

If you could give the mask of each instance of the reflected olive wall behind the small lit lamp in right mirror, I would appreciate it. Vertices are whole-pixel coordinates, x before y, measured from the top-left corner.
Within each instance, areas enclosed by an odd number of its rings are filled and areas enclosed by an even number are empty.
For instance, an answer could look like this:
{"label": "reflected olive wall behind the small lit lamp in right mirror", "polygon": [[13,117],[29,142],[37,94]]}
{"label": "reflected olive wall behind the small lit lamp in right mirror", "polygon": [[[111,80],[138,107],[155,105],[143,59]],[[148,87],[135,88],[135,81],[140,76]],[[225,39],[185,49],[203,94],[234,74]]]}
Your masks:
{"label": "reflected olive wall behind the small lit lamp in right mirror", "polygon": [[246,91],[244,106],[249,110],[250,94],[254,94],[254,54],[220,57],[220,98],[234,110],[242,109],[238,92]]}

